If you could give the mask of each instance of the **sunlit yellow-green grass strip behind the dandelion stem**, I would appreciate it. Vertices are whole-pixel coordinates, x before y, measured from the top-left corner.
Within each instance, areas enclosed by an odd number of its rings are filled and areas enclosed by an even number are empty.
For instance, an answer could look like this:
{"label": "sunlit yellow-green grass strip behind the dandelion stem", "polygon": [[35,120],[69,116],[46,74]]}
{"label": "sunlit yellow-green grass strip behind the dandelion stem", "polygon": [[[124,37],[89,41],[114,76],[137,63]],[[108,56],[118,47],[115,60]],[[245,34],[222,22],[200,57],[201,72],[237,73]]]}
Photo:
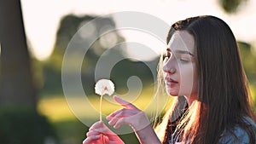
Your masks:
{"label": "sunlit yellow-green grass strip behind the dandelion stem", "polygon": [[[148,87],[143,90],[141,95],[132,98],[134,101],[127,99],[129,97],[122,98],[144,110],[148,108],[150,102],[154,102],[153,93],[154,89]],[[104,96],[104,98],[102,101],[102,113],[109,114],[122,108],[113,101],[113,97]],[[77,96],[68,99],[64,95],[51,95],[45,96],[39,101],[38,111],[44,113],[51,122],[75,120],[76,116],[79,118],[97,118],[99,117],[99,102],[99,95]]]}

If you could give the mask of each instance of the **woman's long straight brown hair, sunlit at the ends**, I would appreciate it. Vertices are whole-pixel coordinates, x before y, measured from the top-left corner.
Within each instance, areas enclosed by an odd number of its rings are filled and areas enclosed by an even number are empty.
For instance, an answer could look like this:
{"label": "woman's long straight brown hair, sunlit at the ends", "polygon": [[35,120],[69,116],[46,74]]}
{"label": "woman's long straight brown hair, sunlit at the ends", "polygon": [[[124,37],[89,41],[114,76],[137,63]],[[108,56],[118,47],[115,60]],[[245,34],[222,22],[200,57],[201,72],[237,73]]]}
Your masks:
{"label": "woman's long straight brown hair, sunlit at the ends", "polygon": [[[181,110],[178,99],[155,129],[160,140],[168,143],[174,130],[182,131],[182,141],[191,144],[217,144],[221,135],[231,134],[239,125],[246,130],[250,143],[255,143],[255,130],[244,118],[255,121],[251,107],[247,77],[241,65],[236,38],[230,27],[217,17],[204,15],[177,21],[167,36],[167,43],[176,31],[187,31],[195,38],[198,72],[198,97],[177,120],[170,118]],[[179,109],[179,110],[178,110]]]}

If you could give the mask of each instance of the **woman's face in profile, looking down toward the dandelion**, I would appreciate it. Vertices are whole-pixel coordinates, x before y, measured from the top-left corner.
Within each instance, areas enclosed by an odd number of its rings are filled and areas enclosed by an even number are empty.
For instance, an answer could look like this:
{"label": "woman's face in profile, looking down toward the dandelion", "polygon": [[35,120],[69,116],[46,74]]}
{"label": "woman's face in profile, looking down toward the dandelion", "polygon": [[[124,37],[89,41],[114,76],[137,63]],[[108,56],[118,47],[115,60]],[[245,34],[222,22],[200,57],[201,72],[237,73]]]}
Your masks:
{"label": "woman's face in profile, looking down toward the dandelion", "polygon": [[169,95],[197,95],[195,40],[186,31],[174,32],[163,62],[166,92]]}

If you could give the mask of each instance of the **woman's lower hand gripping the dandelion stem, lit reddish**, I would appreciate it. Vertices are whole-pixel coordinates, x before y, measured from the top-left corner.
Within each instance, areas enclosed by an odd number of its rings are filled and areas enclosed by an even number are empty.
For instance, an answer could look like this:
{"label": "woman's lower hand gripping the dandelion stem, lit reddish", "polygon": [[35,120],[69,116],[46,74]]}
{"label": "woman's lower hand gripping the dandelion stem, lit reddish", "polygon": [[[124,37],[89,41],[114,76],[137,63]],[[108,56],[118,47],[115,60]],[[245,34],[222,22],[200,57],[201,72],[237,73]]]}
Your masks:
{"label": "woman's lower hand gripping the dandelion stem, lit reddish", "polygon": [[86,135],[87,138],[83,144],[124,144],[119,136],[109,130],[102,121],[93,124]]}

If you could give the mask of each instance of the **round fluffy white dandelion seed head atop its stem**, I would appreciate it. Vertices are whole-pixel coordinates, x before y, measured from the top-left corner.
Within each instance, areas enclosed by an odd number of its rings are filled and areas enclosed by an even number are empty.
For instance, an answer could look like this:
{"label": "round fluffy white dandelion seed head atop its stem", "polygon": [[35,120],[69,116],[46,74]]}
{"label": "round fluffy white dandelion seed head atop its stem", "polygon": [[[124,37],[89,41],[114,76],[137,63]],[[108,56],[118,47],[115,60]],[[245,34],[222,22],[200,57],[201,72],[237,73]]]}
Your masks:
{"label": "round fluffy white dandelion seed head atop its stem", "polygon": [[114,84],[111,80],[100,79],[95,84],[95,93],[98,95],[113,95]]}

